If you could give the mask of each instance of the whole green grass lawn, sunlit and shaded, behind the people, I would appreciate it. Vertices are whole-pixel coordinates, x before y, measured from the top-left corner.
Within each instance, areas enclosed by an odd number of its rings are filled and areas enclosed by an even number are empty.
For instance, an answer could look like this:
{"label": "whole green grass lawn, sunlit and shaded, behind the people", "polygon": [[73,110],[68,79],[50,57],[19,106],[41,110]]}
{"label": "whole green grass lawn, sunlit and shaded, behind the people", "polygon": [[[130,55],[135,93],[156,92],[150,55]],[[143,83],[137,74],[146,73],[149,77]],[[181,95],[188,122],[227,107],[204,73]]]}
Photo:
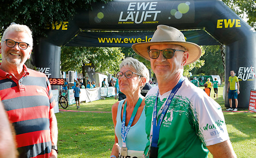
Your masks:
{"label": "whole green grass lawn, sunlit and shaded, behind the people", "polygon": [[[203,87],[200,87],[203,88]],[[219,87],[217,101],[225,111]],[[111,111],[116,102],[113,97],[82,103],[77,111]],[[68,110],[76,110],[70,105]],[[238,158],[253,158],[256,155],[256,113],[224,112],[228,133]],[[58,147],[60,158],[109,157],[114,143],[114,126],[111,113],[63,112],[56,113],[58,121]],[[208,156],[212,158],[209,153]]]}

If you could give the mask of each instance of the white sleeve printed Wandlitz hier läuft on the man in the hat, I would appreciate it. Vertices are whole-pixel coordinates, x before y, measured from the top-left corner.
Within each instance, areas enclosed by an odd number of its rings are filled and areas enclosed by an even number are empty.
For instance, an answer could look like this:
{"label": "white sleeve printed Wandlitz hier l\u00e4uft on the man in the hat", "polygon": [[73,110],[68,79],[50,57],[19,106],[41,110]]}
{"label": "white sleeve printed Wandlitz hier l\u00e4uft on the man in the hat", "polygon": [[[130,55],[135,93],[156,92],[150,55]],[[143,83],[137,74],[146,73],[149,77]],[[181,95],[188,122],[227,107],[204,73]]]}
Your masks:
{"label": "white sleeve printed Wandlitz hier l\u00e4uft on the man in the hat", "polygon": [[206,93],[198,97],[193,100],[192,111],[197,119],[194,125],[199,139],[205,146],[228,140],[228,131],[220,105]]}

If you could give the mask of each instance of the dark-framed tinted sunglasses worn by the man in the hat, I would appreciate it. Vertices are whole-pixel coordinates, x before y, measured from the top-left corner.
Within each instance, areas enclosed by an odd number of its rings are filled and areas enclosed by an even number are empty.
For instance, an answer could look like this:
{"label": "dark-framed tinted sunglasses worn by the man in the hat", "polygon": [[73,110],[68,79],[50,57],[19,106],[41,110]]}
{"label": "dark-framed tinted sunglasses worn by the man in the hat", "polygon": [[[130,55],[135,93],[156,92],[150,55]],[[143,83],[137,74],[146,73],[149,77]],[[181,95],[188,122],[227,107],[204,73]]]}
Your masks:
{"label": "dark-framed tinted sunglasses worn by the man in the hat", "polygon": [[163,56],[167,59],[171,59],[174,56],[175,51],[182,51],[185,52],[184,50],[178,50],[178,49],[163,49],[163,50],[157,50],[157,49],[149,49],[148,50],[148,55],[151,59],[156,59],[158,58],[160,51],[162,51]]}

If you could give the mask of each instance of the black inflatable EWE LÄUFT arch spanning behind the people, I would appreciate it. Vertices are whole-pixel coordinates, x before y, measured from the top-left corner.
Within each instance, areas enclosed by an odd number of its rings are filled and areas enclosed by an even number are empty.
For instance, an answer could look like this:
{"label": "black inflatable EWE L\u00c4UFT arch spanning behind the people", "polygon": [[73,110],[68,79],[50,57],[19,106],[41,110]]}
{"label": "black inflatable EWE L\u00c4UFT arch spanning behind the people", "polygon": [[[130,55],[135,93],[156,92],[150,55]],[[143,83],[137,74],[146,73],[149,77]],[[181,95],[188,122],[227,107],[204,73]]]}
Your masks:
{"label": "black inflatable EWE L\u00c4UFT arch spanning behind the people", "polygon": [[[183,32],[187,41],[198,45],[224,44],[225,85],[234,70],[240,84],[238,108],[248,109],[250,90],[256,86],[256,33],[220,0],[92,4],[92,11],[79,11],[72,20],[46,28],[48,37],[41,38],[34,49],[36,67],[48,77],[59,78],[61,46],[131,47],[149,41],[159,24],[188,30]],[[227,93],[225,106],[229,107]]]}

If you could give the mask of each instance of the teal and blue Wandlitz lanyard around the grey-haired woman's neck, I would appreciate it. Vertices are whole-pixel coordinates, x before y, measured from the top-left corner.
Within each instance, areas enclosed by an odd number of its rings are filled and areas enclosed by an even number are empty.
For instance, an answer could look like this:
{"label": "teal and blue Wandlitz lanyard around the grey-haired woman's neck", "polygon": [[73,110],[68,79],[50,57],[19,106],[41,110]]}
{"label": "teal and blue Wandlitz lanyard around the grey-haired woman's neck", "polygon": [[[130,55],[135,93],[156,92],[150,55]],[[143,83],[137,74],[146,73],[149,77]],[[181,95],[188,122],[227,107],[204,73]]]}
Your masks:
{"label": "teal and blue Wandlitz lanyard around the grey-haired woman's neck", "polygon": [[[128,133],[128,131],[129,131],[131,125],[132,125],[132,121],[133,121],[133,119],[134,119],[134,117],[135,117],[135,115],[136,115],[136,113],[137,113],[137,110],[138,110],[139,107],[140,107],[141,102],[142,102],[142,98],[140,97],[139,100],[138,100],[138,102],[136,103],[136,105],[135,105],[133,111],[132,111],[132,116],[131,116],[131,118],[130,118],[130,121],[129,121],[128,125],[127,125],[127,128],[126,128],[125,132],[124,132],[124,127],[125,127],[126,103],[127,103],[127,102],[126,102],[125,105],[124,105],[123,122],[122,122],[122,128],[121,128],[121,136],[122,136],[122,139],[123,139],[123,144],[125,143],[125,139],[126,139],[127,133]],[[126,147],[126,145],[125,145],[125,147]]]}

